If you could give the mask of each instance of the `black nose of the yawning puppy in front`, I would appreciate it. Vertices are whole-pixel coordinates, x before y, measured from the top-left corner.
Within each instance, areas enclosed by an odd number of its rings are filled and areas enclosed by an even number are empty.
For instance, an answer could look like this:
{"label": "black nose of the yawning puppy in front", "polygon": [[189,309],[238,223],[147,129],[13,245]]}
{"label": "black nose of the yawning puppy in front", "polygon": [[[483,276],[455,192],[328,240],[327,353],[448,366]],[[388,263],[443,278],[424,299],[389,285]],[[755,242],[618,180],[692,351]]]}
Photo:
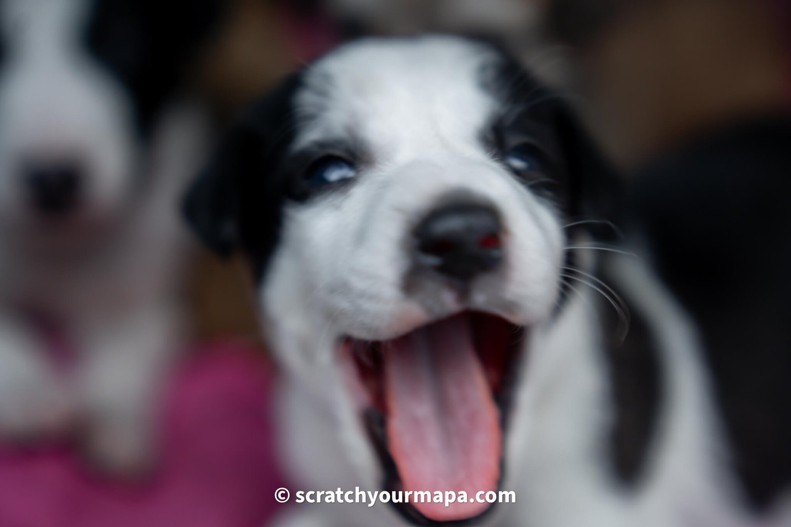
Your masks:
{"label": "black nose of the yawning puppy in front", "polygon": [[414,230],[418,263],[453,279],[470,280],[502,259],[502,228],[496,210],[461,203],[434,210]]}

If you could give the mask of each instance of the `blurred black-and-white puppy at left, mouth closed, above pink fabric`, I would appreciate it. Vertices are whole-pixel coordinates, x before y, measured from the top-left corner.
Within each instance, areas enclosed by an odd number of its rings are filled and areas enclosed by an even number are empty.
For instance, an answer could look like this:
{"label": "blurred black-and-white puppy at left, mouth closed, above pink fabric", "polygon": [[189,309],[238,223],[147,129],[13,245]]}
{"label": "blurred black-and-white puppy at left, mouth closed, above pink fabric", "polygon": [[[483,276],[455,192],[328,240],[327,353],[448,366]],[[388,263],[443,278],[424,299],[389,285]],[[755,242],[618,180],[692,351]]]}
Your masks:
{"label": "blurred black-and-white puppy at left, mouth closed, above pink fabric", "polygon": [[[5,438],[79,414],[107,468],[147,455],[178,326],[177,195],[206,146],[206,119],[181,94],[219,4],[0,1]],[[78,354],[70,376],[53,347]]]}

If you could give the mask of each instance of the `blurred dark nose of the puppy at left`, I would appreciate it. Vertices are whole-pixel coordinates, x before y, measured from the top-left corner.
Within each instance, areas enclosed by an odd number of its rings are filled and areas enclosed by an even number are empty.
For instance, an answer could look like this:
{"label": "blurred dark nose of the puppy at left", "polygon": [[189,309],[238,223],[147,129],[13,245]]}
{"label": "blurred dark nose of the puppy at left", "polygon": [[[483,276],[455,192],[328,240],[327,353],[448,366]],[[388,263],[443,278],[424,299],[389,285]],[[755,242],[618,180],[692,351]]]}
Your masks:
{"label": "blurred dark nose of the puppy at left", "polygon": [[63,214],[77,203],[82,173],[73,162],[29,162],[22,171],[32,206],[43,214]]}

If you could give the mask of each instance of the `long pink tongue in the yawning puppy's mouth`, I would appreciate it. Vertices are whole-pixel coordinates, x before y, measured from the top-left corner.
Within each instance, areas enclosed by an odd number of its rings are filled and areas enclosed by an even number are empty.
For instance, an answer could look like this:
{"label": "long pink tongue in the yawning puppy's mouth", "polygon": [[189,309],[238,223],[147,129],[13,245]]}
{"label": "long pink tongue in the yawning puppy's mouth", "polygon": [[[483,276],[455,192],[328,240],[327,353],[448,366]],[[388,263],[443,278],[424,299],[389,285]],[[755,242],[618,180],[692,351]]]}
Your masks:
{"label": "long pink tongue in the yawning puppy's mouth", "polygon": [[385,351],[388,449],[404,491],[461,491],[467,503],[416,503],[435,521],[473,518],[497,491],[500,415],[475,355],[470,320],[460,315],[418,329]]}

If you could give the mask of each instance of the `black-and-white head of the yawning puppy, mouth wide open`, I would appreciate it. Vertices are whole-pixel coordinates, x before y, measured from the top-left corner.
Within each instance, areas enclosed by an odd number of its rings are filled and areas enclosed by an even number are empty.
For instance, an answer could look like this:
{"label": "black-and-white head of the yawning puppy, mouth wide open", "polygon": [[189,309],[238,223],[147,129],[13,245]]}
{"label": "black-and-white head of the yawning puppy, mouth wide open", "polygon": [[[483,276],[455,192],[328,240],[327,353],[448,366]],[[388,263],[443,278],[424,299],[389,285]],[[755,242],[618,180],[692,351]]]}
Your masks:
{"label": "black-and-white head of the yawning puppy, mouth wide open", "polygon": [[[273,350],[331,401],[365,481],[498,488],[531,332],[561,298],[596,163],[566,108],[495,47],[362,40],[244,119],[187,200],[260,277]],[[597,167],[596,167],[597,168]],[[486,504],[402,506],[424,521]]]}

